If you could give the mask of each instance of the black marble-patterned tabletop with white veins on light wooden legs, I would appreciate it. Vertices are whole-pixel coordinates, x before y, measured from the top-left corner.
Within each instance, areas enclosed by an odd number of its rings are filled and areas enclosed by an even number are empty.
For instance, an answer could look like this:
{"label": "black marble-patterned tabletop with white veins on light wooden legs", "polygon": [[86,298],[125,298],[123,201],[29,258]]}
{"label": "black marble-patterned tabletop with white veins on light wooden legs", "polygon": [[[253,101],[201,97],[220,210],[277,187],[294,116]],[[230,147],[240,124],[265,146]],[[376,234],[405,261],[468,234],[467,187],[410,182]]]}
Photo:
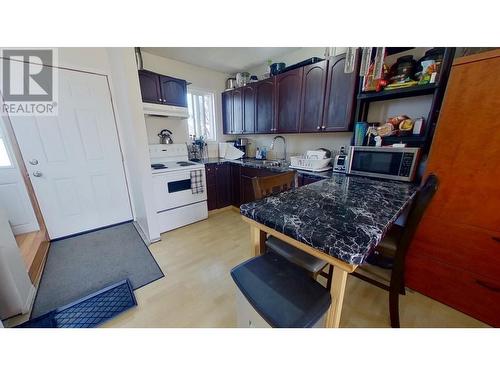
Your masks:
{"label": "black marble-patterned tabletop with white veins on light wooden legs", "polygon": [[346,263],[362,264],[418,187],[334,174],[240,207],[242,215]]}

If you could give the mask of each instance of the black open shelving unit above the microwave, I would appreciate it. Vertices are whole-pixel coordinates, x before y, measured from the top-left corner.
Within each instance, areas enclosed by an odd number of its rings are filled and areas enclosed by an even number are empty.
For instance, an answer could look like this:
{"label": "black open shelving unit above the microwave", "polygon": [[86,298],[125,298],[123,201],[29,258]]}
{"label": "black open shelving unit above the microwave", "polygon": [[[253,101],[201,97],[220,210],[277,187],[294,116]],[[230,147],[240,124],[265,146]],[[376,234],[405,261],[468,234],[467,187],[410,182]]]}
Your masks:
{"label": "black open shelving unit above the microwave", "polygon": [[[387,56],[409,51],[411,49],[413,49],[413,47],[391,47],[387,49]],[[363,92],[363,80],[360,80],[356,105],[356,121],[367,121],[370,104],[373,102],[395,99],[404,100],[406,98],[414,98],[422,95],[432,95],[429,112],[428,115],[425,116],[424,132],[421,135],[390,136],[382,139],[383,145],[402,142],[410,147],[421,147],[424,153],[427,153],[439,117],[439,111],[446,91],[446,83],[448,81],[454,55],[455,48],[445,48],[443,61],[439,71],[439,79],[436,83],[393,90],[382,90],[380,92]]]}

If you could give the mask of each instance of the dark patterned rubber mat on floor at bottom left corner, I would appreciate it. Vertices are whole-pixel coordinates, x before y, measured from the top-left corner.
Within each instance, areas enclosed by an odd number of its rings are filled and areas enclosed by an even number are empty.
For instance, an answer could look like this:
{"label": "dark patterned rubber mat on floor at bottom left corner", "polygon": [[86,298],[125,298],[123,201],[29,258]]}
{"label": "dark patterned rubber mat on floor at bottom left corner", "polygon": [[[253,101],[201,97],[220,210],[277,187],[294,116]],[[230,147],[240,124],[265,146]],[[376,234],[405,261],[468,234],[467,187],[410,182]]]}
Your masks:
{"label": "dark patterned rubber mat on floor at bottom left corner", "polygon": [[129,280],[110,285],[18,328],[92,328],[137,305]]}

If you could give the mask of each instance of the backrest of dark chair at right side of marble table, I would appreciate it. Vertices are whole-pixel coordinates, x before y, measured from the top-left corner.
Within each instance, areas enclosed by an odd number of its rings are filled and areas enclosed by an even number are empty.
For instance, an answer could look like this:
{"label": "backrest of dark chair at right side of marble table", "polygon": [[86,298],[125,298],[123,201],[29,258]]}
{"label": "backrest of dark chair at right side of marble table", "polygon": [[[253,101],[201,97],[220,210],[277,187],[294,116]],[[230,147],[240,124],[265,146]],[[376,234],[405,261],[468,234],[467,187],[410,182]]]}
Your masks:
{"label": "backrest of dark chair at right side of marble table", "polygon": [[415,201],[413,202],[412,208],[406,220],[406,224],[403,230],[403,234],[398,243],[398,253],[406,255],[408,248],[410,247],[413,236],[415,235],[418,224],[422,217],[424,216],[425,210],[431,203],[432,197],[436,193],[439,186],[439,180],[436,175],[431,174],[425,180],[425,183],[420,188]]}

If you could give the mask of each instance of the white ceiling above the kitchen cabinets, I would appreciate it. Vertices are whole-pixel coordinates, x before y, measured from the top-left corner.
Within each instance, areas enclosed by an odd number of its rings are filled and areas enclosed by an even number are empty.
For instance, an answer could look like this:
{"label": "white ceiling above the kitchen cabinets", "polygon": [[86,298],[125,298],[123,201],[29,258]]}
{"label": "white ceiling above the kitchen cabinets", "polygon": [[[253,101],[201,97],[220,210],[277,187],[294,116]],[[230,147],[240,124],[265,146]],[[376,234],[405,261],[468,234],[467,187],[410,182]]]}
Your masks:
{"label": "white ceiling above the kitchen cabinets", "polygon": [[141,47],[167,57],[221,73],[235,73],[299,49],[299,47]]}

